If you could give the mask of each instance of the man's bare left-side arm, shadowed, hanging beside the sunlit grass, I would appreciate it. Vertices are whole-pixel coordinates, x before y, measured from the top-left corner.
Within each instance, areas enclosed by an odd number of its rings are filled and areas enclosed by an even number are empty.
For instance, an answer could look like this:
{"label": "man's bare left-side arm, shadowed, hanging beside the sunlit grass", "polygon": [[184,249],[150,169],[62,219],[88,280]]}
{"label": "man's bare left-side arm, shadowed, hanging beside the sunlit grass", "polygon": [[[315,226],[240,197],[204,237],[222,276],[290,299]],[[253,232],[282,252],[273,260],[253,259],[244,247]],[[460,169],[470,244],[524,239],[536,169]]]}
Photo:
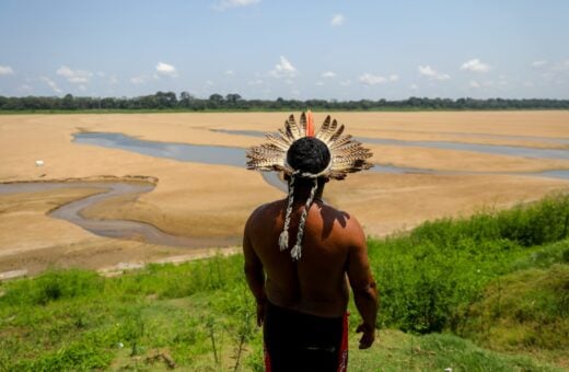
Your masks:
{"label": "man's bare left-side arm, shadowed, hanging beside the sunlit grass", "polygon": [[263,270],[263,263],[253,249],[248,235],[248,224],[245,225],[245,232],[243,234],[243,256],[245,258],[245,278],[247,280],[248,288],[255,301],[257,302],[257,325],[263,325],[263,318],[265,316],[265,271]]}

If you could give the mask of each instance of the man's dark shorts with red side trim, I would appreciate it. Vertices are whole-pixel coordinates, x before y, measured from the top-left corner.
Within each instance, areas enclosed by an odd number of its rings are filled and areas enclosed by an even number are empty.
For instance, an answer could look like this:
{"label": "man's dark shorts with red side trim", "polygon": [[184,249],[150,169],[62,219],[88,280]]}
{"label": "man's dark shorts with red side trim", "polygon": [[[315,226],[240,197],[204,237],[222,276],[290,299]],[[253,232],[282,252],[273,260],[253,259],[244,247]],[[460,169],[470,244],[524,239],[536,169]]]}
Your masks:
{"label": "man's dark shorts with red side trim", "polygon": [[265,307],[263,338],[267,371],[346,371],[348,316],[321,317]]}

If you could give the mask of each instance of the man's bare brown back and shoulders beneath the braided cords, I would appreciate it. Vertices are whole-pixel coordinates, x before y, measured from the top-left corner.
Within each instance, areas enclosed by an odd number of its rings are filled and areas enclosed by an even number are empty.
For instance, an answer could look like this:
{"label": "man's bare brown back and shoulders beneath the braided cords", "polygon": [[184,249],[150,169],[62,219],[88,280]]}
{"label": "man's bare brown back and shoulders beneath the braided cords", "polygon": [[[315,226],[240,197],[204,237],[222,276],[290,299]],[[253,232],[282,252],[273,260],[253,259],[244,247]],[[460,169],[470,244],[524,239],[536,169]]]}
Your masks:
{"label": "man's bare brown back and shoulders beneath the braided cords", "polygon": [[[318,316],[341,316],[349,299],[346,274],[352,271],[350,257],[365,247],[360,224],[348,213],[315,201],[306,218],[302,257],[293,260],[290,248],[304,207],[293,206],[289,249],[281,252],[278,239],[286,207],[286,200],[278,200],[253,212],[245,226],[245,259],[258,259],[263,265],[266,295],[274,304]],[[369,267],[363,269],[368,274]]]}

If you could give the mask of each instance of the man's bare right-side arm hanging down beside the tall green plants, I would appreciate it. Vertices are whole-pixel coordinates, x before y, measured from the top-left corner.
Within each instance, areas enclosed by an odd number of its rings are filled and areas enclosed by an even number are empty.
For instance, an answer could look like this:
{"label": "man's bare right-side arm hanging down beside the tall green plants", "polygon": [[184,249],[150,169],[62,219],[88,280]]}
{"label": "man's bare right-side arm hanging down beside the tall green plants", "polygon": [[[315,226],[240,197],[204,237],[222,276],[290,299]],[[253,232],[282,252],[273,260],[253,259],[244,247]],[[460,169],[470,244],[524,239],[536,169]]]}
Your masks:
{"label": "man's bare right-side arm hanging down beside the tall green plants", "polygon": [[360,349],[369,348],[375,339],[378,317],[378,290],[370,269],[365,235],[357,221],[352,230],[353,243],[348,256],[348,279],[353,291],[353,302],[362,317],[356,332],[363,333]]}

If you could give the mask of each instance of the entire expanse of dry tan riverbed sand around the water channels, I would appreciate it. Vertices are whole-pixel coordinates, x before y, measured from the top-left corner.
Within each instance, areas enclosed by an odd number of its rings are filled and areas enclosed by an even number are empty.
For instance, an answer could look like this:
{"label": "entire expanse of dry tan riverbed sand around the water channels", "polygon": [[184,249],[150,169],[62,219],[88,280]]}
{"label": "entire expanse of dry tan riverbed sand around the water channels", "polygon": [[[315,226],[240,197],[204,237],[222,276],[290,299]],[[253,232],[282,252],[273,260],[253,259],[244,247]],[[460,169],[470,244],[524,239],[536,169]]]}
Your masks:
{"label": "entire expanse of dry tan riverbed sand around the water channels", "polygon": [[[298,115],[298,113],[295,113]],[[251,211],[283,197],[260,174],[227,165],[151,158],[71,142],[78,131],[121,132],[140,139],[247,148],[263,139],[210,129],[274,131],[288,113],[109,114],[0,116],[0,182],[154,177],[158,185],[133,199],[121,197],[85,211],[92,218],[138,220],[178,235],[240,236]],[[325,114],[316,113],[322,123]],[[334,113],[358,137],[437,140],[562,149],[547,139],[569,138],[569,112]],[[490,135],[490,136],[489,136]],[[569,170],[567,160],[371,144],[379,164],[497,174],[361,173],[332,182],[328,202],[356,216],[370,235],[409,229],[421,221],[503,208],[566,190],[567,179],[503,173]],[[43,160],[43,166],[35,161]],[[502,173],[502,174],[500,174]],[[0,195],[0,272],[55,266],[101,268],[119,263],[204,254],[93,235],[46,213],[94,193],[73,188]]]}

